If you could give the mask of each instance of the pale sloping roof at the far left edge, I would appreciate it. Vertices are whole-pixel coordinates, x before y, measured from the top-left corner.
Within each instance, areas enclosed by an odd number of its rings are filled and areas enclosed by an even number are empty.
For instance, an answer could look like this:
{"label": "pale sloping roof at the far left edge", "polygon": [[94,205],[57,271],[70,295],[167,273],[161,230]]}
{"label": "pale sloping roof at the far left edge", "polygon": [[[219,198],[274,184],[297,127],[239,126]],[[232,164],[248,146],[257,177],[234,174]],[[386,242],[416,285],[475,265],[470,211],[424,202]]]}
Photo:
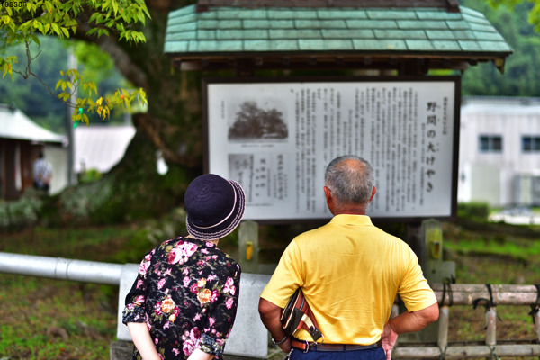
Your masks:
{"label": "pale sloping roof at the far left edge", "polygon": [[14,106],[0,104],[0,138],[65,143],[66,137],[31,121]]}

